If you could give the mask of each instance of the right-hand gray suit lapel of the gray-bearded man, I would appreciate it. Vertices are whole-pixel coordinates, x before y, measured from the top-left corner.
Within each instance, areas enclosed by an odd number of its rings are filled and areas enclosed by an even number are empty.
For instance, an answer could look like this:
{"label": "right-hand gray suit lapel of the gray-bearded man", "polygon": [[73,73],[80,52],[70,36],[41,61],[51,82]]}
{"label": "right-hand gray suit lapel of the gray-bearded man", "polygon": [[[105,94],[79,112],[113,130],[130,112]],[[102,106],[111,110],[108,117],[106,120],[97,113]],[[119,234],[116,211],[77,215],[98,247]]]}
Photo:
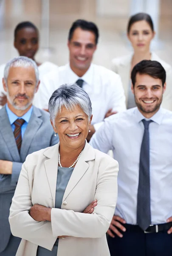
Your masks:
{"label": "right-hand gray suit lapel of the gray-bearded man", "polygon": [[25,157],[28,155],[32,140],[34,139],[37,130],[42,125],[42,119],[40,119],[41,116],[41,111],[34,107],[22,140],[20,150],[20,157],[22,160],[25,160]]}

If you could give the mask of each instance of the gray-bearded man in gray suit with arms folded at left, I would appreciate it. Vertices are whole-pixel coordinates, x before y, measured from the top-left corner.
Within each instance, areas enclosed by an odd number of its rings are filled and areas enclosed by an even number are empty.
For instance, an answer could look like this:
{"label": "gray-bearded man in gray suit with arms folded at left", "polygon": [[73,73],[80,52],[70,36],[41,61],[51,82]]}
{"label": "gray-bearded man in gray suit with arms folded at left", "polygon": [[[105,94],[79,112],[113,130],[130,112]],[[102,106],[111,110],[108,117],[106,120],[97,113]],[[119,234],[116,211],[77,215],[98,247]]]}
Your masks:
{"label": "gray-bearded man in gray suit with arms folded at left", "polygon": [[7,104],[0,110],[0,256],[15,256],[20,238],[11,235],[9,208],[28,154],[58,143],[49,113],[32,105],[39,87],[39,71],[30,58],[6,64],[3,87]]}

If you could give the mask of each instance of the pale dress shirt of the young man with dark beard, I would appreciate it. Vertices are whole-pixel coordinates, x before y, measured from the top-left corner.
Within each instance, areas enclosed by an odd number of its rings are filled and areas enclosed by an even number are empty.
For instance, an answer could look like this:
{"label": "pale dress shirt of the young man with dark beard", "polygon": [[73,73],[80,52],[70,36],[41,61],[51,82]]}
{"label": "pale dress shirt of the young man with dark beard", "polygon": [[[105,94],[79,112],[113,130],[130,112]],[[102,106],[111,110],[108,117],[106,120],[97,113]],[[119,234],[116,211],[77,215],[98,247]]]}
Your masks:
{"label": "pale dress shirt of the young man with dark beard", "polygon": [[[90,144],[107,153],[113,150],[119,163],[118,201],[115,214],[136,224],[139,159],[145,117],[131,108],[104,120]],[[172,216],[172,112],[160,108],[149,124],[150,195],[152,224]]]}

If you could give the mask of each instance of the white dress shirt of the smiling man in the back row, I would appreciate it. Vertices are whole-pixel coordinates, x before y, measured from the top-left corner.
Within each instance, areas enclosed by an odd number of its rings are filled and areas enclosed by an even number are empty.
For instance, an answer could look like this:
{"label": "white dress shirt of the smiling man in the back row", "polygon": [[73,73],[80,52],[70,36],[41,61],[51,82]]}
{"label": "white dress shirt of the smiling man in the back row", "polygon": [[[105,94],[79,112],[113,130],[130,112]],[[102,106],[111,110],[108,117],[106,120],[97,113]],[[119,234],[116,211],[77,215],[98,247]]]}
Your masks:
{"label": "white dress shirt of the smiling man in the back row", "polygon": [[38,108],[48,108],[48,101],[54,92],[62,84],[74,84],[78,79],[83,79],[83,90],[91,100],[93,108],[92,124],[98,129],[104,120],[107,111],[124,111],[126,109],[124,89],[119,75],[105,67],[91,64],[84,76],[77,76],[69,64],[53,70],[43,77],[39,89]]}

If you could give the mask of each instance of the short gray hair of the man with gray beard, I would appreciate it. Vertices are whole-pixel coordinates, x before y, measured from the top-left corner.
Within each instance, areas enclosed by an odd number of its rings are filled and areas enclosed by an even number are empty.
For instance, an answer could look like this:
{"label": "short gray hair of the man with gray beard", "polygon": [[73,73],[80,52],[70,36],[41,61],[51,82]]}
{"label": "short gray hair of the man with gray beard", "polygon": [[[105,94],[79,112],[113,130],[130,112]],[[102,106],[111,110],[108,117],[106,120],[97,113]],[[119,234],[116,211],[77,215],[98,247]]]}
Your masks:
{"label": "short gray hair of the man with gray beard", "polygon": [[7,86],[7,78],[8,78],[9,70],[11,67],[33,67],[35,70],[36,86],[37,86],[39,82],[39,70],[36,62],[33,61],[31,58],[20,56],[20,57],[11,59],[11,61],[8,61],[4,69],[4,80],[6,82],[6,86]]}

